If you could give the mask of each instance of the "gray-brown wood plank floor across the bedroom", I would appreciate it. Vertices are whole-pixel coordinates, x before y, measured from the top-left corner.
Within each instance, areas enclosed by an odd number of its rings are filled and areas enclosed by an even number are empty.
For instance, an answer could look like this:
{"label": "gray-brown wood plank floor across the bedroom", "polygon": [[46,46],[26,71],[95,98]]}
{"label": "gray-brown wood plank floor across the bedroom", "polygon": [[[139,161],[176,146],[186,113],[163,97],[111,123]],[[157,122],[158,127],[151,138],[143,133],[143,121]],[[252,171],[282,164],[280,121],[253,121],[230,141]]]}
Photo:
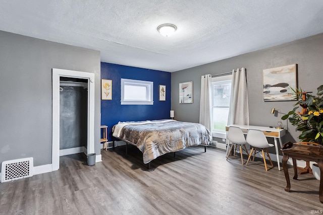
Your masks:
{"label": "gray-brown wood plank floor across the bedroom", "polygon": [[[191,147],[161,156],[146,171],[134,146],[101,151],[87,166],[81,155],[61,157],[60,169],[0,183],[0,214],[311,214],[321,210],[319,181],[299,175],[291,192],[277,165],[241,165],[240,155]],[[244,157],[244,162],[247,158]]]}

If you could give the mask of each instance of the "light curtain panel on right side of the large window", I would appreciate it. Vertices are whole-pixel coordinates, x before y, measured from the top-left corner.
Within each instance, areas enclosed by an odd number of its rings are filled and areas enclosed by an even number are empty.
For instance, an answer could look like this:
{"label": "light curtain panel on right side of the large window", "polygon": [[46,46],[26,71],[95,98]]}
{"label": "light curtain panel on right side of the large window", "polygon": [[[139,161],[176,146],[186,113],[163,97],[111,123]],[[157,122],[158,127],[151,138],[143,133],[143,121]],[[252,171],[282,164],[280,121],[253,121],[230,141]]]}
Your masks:
{"label": "light curtain panel on right side of the large window", "polygon": [[245,68],[232,71],[228,125],[249,125],[249,105]]}

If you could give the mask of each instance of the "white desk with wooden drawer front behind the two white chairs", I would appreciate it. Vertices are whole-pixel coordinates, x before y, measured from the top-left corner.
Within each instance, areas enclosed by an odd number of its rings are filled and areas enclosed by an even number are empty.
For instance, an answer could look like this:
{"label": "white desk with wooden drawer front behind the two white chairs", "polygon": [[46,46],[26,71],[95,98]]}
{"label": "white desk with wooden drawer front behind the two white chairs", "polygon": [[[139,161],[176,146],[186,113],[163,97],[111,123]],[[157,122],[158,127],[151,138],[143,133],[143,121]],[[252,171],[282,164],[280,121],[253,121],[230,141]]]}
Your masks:
{"label": "white desk with wooden drawer front behind the two white chairs", "polygon": [[277,157],[277,163],[278,163],[278,169],[281,170],[281,165],[279,161],[279,153],[278,153],[278,145],[277,145],[277,138],[279,140],[279,144],[281,148],[283,147],[282,139],[281,137],[286,134],[285,129],[277,129],[277,128],[271,128],[271,127],[265,127],[265,126],[254,126],[254,125],[228,125],[226,126],[226,131],[229,130],[230,126],[236,126],[242,129],[242,132],[244,134],[247,134],[248,129],[256,129],[256,130],[261,130],[266,137],[273,137],[274,138],[274,143],[275,143],[275,150],[276,150],[276,157]]}

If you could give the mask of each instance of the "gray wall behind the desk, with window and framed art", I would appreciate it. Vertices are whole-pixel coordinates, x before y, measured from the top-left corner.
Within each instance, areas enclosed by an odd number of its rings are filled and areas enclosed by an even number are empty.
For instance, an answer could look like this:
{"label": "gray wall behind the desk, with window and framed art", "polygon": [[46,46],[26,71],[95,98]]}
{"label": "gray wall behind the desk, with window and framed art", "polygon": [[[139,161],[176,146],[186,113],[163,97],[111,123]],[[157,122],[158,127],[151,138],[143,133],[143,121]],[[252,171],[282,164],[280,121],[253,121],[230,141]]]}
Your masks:
{"label": "gray wall behind the desk, with window and framed art", "polygon": [[[293,109],[295,101],[264,102],[262,99],[262,69],[297,63],[298,87],[316,94],[316,88],[323,84],[322,44],[323,34],[318,34],[172,73],[172,110],[175,110],[175,119],[189,122],[199,121],[202,75],[226,73],[232,69],[245,67],[247,69],[250,125],[277,126],[279,118],[270,113],[271,109],[274,107],[287,113]],[[179,83],[188,81],[193,81],[193,104],[179,104]],[[299,134],[295,131],[295,127],[287,121],[283,123],[288,127],[288,134],[282,138],[283,143],[298,141]]]}

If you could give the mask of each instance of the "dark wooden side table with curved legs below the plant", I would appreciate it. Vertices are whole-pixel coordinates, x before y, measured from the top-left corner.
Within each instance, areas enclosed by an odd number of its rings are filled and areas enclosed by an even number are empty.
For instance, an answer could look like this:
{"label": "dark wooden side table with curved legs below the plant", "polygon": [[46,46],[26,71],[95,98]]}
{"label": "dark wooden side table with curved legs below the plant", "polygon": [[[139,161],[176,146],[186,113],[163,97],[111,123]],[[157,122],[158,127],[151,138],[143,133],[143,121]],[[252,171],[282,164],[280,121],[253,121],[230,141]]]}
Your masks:
{"label": "dark wooden side table with curved legs below the plant", "polygon": [[320,181],[319,181],[319,201],[323,203],[323,146],[314,144],[313,142],[296,142],[293,144],[292,142],[287,142],[284,144],[281,149],[283,156],[283,168],[286,178],[286,188],[285,191],[289,192],[291,188],[291,183],[289,180],[289,174],[287,169],[287,160],[288,158],[292,158],[293,167],[294,167],[294,177],[293,179],[297,179],[297,165],[296,160],[304,160],[304,161],[314,161],[317,162],[319,170],[320,170]]}

